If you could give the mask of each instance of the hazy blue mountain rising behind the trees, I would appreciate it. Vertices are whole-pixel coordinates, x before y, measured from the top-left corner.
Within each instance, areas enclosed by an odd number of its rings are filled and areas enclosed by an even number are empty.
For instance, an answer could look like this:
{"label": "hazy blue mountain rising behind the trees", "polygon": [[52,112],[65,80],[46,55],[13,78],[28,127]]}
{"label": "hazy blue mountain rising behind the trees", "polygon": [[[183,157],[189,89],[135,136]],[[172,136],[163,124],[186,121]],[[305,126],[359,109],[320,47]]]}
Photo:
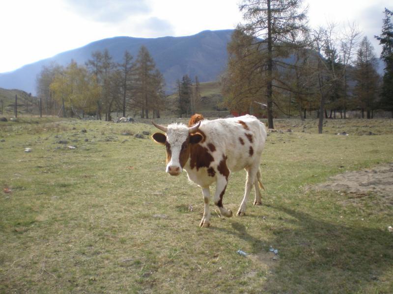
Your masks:
{"label": "hazy blue mountain rising behind the trees", "polygon": [[56,62],[65,66],[72,59],[83,65],[91,59],[92,52],[104,49],[109,50],[114,62],[121,63],[125,50],[128,50],[135,60],[140,46],[144,45],[153,57],[157,68],[164,75],[167,92],[173,92],[176,79],[181,80],[184,74],[188,74],[193,80],[197,75],[200,82],[217,79],[226,67],[226,44],[232,32],[233,30],[206,30],[186,37],[103,39],[25,65],[13,72],[0,73],[0,87],[20,89],[34,95],[36,76],[44,65]]}

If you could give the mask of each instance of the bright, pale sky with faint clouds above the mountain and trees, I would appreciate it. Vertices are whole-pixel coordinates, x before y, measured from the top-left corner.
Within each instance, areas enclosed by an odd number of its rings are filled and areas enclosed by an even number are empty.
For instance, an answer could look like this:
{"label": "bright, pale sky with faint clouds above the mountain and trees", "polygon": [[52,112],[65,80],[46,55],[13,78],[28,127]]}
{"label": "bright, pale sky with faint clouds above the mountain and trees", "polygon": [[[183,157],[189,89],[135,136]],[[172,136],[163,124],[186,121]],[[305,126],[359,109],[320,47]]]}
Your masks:
{"label": "bright, pale sky with faint clouds above the mountain and trees", "polygon": [[[311,27],[356,22],[373,38],[392,0],[303,0]],[[115,36],[188,36],[242,22],[239,0],[1,0],[0,73]]]}

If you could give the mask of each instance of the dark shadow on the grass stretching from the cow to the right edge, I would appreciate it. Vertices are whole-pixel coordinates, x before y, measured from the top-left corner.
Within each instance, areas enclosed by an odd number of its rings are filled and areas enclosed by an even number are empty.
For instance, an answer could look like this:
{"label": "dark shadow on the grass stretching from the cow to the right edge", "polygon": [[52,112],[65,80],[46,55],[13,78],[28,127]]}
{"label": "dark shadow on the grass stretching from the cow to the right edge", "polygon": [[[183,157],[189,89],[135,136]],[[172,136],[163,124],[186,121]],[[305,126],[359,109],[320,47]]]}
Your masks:
{"label": "dark shadow on the grass stretching from the cow to the right edge", "polygon": [[[291,217],[288,221],[293,222],[294,228],[281,230],[269,241],[269,244],[280,246],[280,262],[275,271],[282,274],[273,274],[266,282],[266,289],[274,291],[276,285],[283,282],[291,284],[288,274],[291,270],[297,272],[297,284],[320,285],[319,293],[334,292],[329,285],[338,288],[342,285],[347,289],[344,292],[349,293],[364,291],[381,281],[389,288],[390,282],[385,280],[384,273],[392,270],[393,234],[388,230],[349,226],[283,206],[268,206],[288,214]],[[250,253],[266,250],[261,240],[249,234],[241,221],[231,222],[233,230],[224,230],[250,243]],[[326,283],[321,284],[321,279]]]}

